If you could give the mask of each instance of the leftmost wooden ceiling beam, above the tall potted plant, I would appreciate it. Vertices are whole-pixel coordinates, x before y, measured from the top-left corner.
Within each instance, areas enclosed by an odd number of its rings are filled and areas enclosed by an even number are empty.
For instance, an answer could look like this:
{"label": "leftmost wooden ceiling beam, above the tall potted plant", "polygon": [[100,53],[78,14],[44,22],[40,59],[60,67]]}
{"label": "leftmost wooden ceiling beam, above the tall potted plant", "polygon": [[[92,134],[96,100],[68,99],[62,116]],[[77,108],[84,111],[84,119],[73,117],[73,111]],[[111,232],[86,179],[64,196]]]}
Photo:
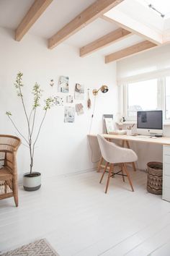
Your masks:
{"label": "leftmost wooden ceiling beam, above the tall potted plant", "polygon": [[19,26],[17,27],[17,30],[15,31],[15,40],[22,40],[23,36],[27,33],[30,27],[32,27],[45,9],[47,9],[52,1],[53,0],[35,0],[32,7],[30,7],[29,11],[22,19],[22,22],[20,22]]}

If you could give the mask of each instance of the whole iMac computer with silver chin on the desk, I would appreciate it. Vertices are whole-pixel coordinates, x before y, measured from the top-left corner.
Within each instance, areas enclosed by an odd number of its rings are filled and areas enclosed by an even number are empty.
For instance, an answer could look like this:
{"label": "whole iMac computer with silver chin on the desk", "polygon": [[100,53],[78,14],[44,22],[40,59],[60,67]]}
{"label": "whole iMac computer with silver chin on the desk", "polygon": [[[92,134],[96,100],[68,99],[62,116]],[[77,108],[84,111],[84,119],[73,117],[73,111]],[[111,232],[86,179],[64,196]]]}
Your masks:
{"label": "whole iMac computer with silver chin on the desk", "polygon": [[138,111],[137,133],[139,135],[161,137],[163,135],[162,111]]}

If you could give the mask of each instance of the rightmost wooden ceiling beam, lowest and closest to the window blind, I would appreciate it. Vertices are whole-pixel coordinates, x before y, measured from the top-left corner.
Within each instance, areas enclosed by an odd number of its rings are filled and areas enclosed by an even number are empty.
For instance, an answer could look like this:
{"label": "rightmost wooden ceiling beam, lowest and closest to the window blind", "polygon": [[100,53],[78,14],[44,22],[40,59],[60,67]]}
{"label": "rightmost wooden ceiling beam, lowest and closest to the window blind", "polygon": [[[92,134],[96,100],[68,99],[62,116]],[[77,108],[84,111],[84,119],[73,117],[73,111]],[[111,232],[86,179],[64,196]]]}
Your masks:
{"label": "rightmost wooden ceiling beam, lowest and closest to the window blind", "polygon": [[157,45],[155,43],[145,40],[141,43],[135,44],[134,46],[130,46],[128,48],[122,49],[121,51],[117,51],[113,54],[109,54],[109,55],[105,56],[105,63],[124,59],[125,57],[132,56],[134,54],[138,54],[141,51],[146,51],[146,50],[156,47],[156,46]]}

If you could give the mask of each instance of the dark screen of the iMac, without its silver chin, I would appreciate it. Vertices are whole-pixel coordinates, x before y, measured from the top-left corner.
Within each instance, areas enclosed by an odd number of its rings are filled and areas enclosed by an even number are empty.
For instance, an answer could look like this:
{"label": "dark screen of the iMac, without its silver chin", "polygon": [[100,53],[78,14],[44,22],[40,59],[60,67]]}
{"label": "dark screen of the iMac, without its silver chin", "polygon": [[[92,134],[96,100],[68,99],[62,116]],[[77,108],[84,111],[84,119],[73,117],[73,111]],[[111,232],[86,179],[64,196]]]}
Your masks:
{"label": "dark screen of the iMac, without its silver chin", "polygon": [[162,129],[162,111],[138,111],[137,128],[138,129]]}

